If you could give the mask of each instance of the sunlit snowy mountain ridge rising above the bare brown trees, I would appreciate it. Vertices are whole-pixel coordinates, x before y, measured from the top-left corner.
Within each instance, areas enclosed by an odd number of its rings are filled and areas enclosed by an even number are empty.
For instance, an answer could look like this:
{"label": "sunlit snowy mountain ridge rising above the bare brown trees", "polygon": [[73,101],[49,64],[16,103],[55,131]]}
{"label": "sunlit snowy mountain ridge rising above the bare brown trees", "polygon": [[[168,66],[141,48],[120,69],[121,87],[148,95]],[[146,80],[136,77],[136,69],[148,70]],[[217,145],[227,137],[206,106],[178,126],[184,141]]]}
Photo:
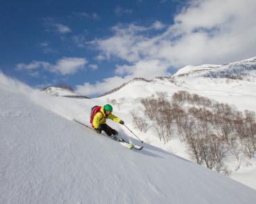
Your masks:
{"label": "sunlit snowy mountain ridge rising above the bare brown trees", "polygon": [[234,104],[239,110],[256,111],[255,83],[256,57],[252,57],[222,65],[185,66],[172,77],[152,80],[135,78],[105,93],[102,99],[132,101],[155,94],[156,91],[165,91],[171,97],[176,91],[183,90]]}

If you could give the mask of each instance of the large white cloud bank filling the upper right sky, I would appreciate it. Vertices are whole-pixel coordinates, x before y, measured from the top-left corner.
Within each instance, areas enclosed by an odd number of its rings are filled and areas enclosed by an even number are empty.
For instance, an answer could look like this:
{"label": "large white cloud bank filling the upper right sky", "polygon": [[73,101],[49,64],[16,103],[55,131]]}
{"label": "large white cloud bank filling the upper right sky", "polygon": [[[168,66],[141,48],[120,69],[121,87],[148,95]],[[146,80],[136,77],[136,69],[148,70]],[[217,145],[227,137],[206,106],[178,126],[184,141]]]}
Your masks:
{"label": "large white cloud bank filling the upper right sky", "polygon": [[[111,37],[94,42],[109,60],[127,62],[116,68],[123,79],[167,75],[170,67],[221,64],[255,56],[255,13],[254,0],[192,0],[170,26],[160,21],[148,27],[118,24]],[[106,82],[111,80],[102,84]]]}

